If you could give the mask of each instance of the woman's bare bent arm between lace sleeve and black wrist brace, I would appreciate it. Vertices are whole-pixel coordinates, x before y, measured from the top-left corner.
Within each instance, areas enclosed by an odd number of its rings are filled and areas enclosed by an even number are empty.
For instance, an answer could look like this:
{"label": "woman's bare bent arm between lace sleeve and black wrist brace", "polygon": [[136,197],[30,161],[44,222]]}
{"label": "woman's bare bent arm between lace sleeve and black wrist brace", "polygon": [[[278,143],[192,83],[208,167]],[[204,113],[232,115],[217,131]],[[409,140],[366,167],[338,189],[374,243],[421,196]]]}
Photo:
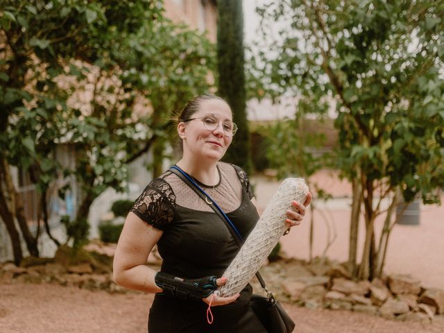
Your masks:
{"label": "woman's bare bent arm between lace sleeve and black wrist brace", "polygon": [[146,266],[148,255],[162,236],[154,228],[130,212],[126,217],[114,255],[112,275],[114,282],[128,289],[159,293],[153,269]]}

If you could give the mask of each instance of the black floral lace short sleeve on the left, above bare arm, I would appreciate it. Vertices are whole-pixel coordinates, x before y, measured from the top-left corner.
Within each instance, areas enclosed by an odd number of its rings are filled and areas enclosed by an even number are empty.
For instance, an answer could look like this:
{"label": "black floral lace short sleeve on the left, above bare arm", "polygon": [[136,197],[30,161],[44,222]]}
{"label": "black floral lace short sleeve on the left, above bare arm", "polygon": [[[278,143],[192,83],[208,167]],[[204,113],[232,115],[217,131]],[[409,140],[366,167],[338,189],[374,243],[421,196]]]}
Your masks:
{"label": "black floral lace short sleeve on the left, above bare arm", "polygon": [[137,198],[131,212],[154,228],[165,230],[174,216],[176,196],[162,178],[155,178]]}

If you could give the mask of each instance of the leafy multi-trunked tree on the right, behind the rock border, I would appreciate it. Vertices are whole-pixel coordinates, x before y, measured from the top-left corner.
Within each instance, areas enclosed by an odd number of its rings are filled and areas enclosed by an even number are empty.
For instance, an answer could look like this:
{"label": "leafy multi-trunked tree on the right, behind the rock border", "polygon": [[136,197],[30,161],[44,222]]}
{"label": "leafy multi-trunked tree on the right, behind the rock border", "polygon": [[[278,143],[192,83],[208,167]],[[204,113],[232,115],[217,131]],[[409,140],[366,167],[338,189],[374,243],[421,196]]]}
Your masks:
{"label": "leafy multi-trunked tree on the right, behind the rock border", "polygon": [[[294,0],[258,12],[280,22],[273,58],[261,57],[268,83],[308,98],[313,110],[336,103],[337,166],[353,184],[351,269],[380,276],[398,194],[436,203],[444,183],[444,3]],[[355,269],[360,211],[366,239]]]}

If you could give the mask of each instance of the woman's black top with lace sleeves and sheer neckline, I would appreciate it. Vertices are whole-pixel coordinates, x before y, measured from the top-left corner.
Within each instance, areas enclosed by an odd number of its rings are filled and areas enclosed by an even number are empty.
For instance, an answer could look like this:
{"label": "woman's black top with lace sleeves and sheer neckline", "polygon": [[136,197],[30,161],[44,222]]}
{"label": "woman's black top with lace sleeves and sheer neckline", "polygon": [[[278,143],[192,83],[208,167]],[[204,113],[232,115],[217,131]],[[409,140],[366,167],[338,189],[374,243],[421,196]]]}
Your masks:
{"label": "woman's black top with lace sleeves and sheer neckline", "polygon": [[[219,184],[198,182],[246,239],[259,216],[244,170],[219,162]],[[162,271],[182,278],[221,276],[239,250],[225,223],[212,208],[170,171],[155,178],[137,198],[131,212],[163,230],[157,248]]]}

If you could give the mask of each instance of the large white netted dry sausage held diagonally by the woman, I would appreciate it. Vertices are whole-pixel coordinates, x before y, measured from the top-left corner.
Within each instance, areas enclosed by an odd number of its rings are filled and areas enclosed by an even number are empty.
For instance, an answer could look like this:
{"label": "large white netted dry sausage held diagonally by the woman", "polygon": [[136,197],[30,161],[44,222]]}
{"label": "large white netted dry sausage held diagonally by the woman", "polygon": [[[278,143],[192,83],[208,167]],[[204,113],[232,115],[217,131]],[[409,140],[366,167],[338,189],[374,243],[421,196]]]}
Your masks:
{"label": "large white netted dry sausage held diagonally by the woman", "polygon": [[308,191],[307,184],[302,178],[287,178],[282,182],[241,250],[223,273],[222,276],[228,278],[228,281],[219,287],[221,296],[233,296],[250,282],[287,230],[285,219],[287,219],[287,210],[292,207],[291,202],[296,200],[303,204]]}

